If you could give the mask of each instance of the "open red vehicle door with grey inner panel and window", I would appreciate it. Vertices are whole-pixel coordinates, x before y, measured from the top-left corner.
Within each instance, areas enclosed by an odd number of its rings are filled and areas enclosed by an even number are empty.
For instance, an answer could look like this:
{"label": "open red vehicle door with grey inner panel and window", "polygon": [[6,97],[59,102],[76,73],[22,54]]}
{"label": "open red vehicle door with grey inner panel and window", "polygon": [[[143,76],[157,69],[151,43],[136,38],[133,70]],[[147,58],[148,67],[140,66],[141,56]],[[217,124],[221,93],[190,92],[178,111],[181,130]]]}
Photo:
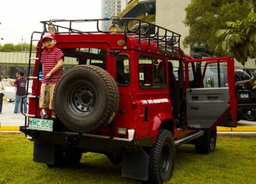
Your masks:
{"label": "open red vehicle door with grey inner panel and window", "polygon": [[[189,63],[196,65],[197,86],[189,83]],[[186,60],[187,123],[191,128],[236,127],[234,60],[230,57]]]}

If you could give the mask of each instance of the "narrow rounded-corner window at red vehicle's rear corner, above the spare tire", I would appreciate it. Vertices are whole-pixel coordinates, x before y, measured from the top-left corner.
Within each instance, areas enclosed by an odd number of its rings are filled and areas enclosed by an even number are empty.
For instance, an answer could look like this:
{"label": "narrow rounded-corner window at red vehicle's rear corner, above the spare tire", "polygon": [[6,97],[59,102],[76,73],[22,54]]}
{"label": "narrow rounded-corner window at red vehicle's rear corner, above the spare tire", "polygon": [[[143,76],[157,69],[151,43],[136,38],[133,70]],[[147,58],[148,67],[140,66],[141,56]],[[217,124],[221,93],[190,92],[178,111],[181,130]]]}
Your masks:
{"label": "narrow rounded-corner window at red vehicle's rear corner, above the spare tire", "polygon": [[116,56],[116,81],[118,85],[129,85],[130,77],[130,58],[126,54]]}

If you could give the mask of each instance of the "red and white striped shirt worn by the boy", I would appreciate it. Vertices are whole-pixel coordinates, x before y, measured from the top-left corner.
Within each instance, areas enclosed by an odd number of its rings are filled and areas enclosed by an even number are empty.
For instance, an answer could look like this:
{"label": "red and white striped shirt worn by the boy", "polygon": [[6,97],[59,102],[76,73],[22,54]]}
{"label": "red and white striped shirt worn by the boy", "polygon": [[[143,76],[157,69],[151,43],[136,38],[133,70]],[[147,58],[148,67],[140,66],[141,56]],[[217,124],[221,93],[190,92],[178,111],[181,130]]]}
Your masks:
{"label": "red and white striped shirt worn by the boy", "polygon": [[41,63],[44,65],[44,73],[43,73],[43,83],[57,83],[60,77],[63,74],[63,66],[57,72],[53,73],[49,79],[46,79],[45,76],[49,73],[55,65],[57,65],[58,61],[63,58],[64,55],[61,49],[57,48],[55,45],[49,51],[47,48],[44,49],[41,55]]}

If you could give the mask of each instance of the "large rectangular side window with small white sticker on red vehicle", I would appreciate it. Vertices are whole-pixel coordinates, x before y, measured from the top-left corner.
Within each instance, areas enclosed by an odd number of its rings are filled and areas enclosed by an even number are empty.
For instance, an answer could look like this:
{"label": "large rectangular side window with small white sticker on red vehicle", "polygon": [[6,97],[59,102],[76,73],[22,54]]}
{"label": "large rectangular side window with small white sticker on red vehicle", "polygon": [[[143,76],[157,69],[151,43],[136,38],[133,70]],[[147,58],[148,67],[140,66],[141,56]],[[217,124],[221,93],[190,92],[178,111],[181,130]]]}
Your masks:
{"label": "large rectangular side window with small white sticker on red vehicle", "polygon": [[163,58],[139,55],[139,83],[143,88],[166,88]]}

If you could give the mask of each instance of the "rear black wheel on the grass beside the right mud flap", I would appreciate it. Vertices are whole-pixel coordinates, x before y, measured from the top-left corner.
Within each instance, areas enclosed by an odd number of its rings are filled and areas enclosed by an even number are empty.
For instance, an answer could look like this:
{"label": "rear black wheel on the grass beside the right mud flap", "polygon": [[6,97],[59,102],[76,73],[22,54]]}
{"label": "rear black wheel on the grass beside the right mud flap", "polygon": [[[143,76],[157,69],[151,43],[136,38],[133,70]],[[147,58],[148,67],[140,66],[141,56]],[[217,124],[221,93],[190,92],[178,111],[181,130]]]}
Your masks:
{"label": "rear black wheel on the grass beside the right mud flap", "polygon": [[172,132],[160,129],[156,143],[149,150],[149,173],[146,183],[170,180],[174,169],[175,145]]}

